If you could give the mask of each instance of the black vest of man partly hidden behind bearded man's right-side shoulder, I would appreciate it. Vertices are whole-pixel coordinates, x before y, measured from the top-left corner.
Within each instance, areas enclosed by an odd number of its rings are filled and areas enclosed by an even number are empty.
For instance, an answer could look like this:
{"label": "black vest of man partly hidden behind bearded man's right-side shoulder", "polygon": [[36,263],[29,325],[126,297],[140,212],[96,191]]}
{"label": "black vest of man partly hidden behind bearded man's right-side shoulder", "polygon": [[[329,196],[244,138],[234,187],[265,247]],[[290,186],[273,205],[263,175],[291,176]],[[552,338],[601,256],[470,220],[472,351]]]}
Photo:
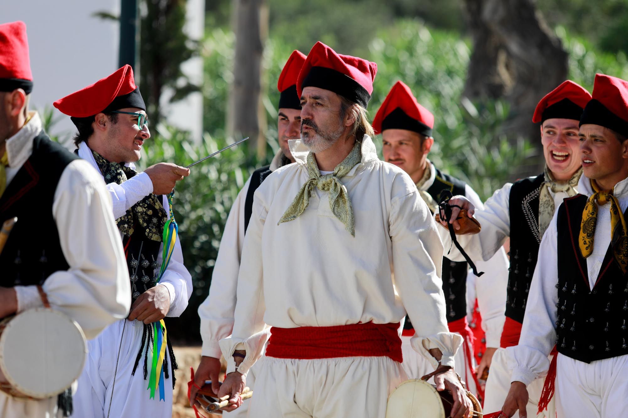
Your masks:
{"label": "black vest of man partly hidden behind bearded man's right-side shoulder", "polygon": [[[465,186],[466,184],[462,180],[441,173],[440,170],[436,169],[436,178],[427,192],[438,203],[441,191],[449,190],[454,196],[465,196]],[[445,254],[447,254],[447,250],[445,250]],[[443,292],[447,305],[447,322],[457,321],[457,319],[467,316],[467,272],[467,262],[450,261],[447,255],[443,257],[441,278],[443,279]],[[403,328],[404,330],[413,328],[408,317],[406,317]]]}

